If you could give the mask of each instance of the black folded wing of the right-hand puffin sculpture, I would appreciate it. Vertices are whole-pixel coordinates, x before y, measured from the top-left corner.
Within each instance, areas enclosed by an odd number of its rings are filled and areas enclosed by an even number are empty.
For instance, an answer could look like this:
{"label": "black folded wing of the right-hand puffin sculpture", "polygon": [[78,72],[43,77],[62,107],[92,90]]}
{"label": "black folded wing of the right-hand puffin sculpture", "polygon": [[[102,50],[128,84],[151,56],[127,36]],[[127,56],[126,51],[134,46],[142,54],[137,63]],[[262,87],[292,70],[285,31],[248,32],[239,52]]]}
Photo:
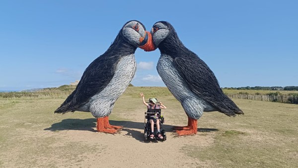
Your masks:
{"label": "black folded wing of the right-hand puffin sculpture", "polygon": [[214,73],[198,56],[178,57],[174,59],[173,64],[190,89],[199,97],[228,116],[243,114],[223,93]]}

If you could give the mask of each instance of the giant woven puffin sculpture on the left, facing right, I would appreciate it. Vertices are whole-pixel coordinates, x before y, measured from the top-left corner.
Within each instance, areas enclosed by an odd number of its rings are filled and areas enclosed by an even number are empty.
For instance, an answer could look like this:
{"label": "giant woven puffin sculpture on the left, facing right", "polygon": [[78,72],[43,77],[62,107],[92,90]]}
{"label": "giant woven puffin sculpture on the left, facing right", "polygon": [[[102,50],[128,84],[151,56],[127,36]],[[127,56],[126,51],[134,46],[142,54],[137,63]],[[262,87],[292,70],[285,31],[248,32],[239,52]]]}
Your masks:
{"label": "giant woven puffin sculpture on the left, facing right", "polygon": [[110,125],[108,117],[135,75],[136,49],[147,50],[151,42],[151,34],[140,21],[125,23],[108,50],[86,68],[76,89],[55,113],[91,112],[97,118],[98,132],[116,133],[122,126]]}

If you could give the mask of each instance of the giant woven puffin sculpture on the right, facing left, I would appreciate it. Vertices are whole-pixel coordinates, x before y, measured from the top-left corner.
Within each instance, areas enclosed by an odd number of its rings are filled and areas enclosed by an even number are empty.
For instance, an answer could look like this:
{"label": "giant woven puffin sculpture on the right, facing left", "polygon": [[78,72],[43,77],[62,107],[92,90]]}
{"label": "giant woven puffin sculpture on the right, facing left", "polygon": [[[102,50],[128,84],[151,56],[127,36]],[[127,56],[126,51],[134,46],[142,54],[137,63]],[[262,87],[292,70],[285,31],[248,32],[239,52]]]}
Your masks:
{"label": "giant woven puffin sculpture on the right, facing left", "polygon": [[151,34],[161,53],[157,72],[188,116],[187,126],[174,127],[178,135],[196,134],[203,111],[220,111],[228,116],[244,114],[223,93],[207,64],[182,44],[170,23],[156,22]]}

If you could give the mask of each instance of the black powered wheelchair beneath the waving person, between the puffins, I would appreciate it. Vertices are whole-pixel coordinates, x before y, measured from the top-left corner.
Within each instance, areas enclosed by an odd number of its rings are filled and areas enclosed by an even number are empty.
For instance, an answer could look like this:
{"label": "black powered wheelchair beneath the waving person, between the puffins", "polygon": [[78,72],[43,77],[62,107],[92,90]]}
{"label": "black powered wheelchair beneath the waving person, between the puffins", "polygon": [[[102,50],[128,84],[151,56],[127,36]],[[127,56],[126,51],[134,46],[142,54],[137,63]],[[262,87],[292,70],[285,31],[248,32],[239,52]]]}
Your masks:
{"label": "black powered wheelchair beneath the waving person, between the puffins", "polygon": [[157,128],[156,128],[156,122],[154,122],[154,130],[153,130],[154,138],[153,138],[153,140],[165,141],[166,140],[166,132],[164,129],[162,129],[162,124],[164,123],[164,117],[161,115],[161,109],[148,109],[147,112],[145,112],[144,141],[152,140],[149,138],[150,133],[151,133],[151,124],[149,122],[149,118],[152,115],[156,115],[158,117],[157,120],[159,120],[160,134],[163,136],[163,139],[156,138]]}

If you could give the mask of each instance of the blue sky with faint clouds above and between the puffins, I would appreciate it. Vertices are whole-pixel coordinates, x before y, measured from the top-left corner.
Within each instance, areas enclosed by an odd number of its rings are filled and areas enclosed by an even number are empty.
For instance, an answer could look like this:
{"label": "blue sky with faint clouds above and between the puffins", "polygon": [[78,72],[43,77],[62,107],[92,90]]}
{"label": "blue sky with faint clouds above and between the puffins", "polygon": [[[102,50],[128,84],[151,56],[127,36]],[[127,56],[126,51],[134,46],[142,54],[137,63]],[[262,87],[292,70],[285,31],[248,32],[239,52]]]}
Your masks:
{"label": "blue sky with faint clouds above and between the puffins", "polygon": [[[122,26],[170,22],[221,87],[298,85],[298,0],[0,0],[0,90],[79,80]],[[159,50],[136,53],[136,86],[164,86]]]}

